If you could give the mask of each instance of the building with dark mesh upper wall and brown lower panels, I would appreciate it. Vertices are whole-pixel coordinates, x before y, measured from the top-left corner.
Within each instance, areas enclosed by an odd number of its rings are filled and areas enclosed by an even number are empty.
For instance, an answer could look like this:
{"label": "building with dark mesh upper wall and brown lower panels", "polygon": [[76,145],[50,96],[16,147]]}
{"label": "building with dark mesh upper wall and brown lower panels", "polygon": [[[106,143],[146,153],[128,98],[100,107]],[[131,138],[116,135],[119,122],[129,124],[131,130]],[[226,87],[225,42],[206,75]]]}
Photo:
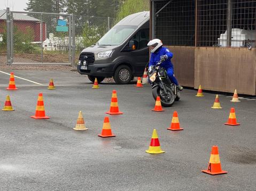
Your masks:
{"label": "building with dark mesh upper wall and brown lower panels", "polygon": [[183,86],[256,94],[256,0],[151,0],[151,39]]}

